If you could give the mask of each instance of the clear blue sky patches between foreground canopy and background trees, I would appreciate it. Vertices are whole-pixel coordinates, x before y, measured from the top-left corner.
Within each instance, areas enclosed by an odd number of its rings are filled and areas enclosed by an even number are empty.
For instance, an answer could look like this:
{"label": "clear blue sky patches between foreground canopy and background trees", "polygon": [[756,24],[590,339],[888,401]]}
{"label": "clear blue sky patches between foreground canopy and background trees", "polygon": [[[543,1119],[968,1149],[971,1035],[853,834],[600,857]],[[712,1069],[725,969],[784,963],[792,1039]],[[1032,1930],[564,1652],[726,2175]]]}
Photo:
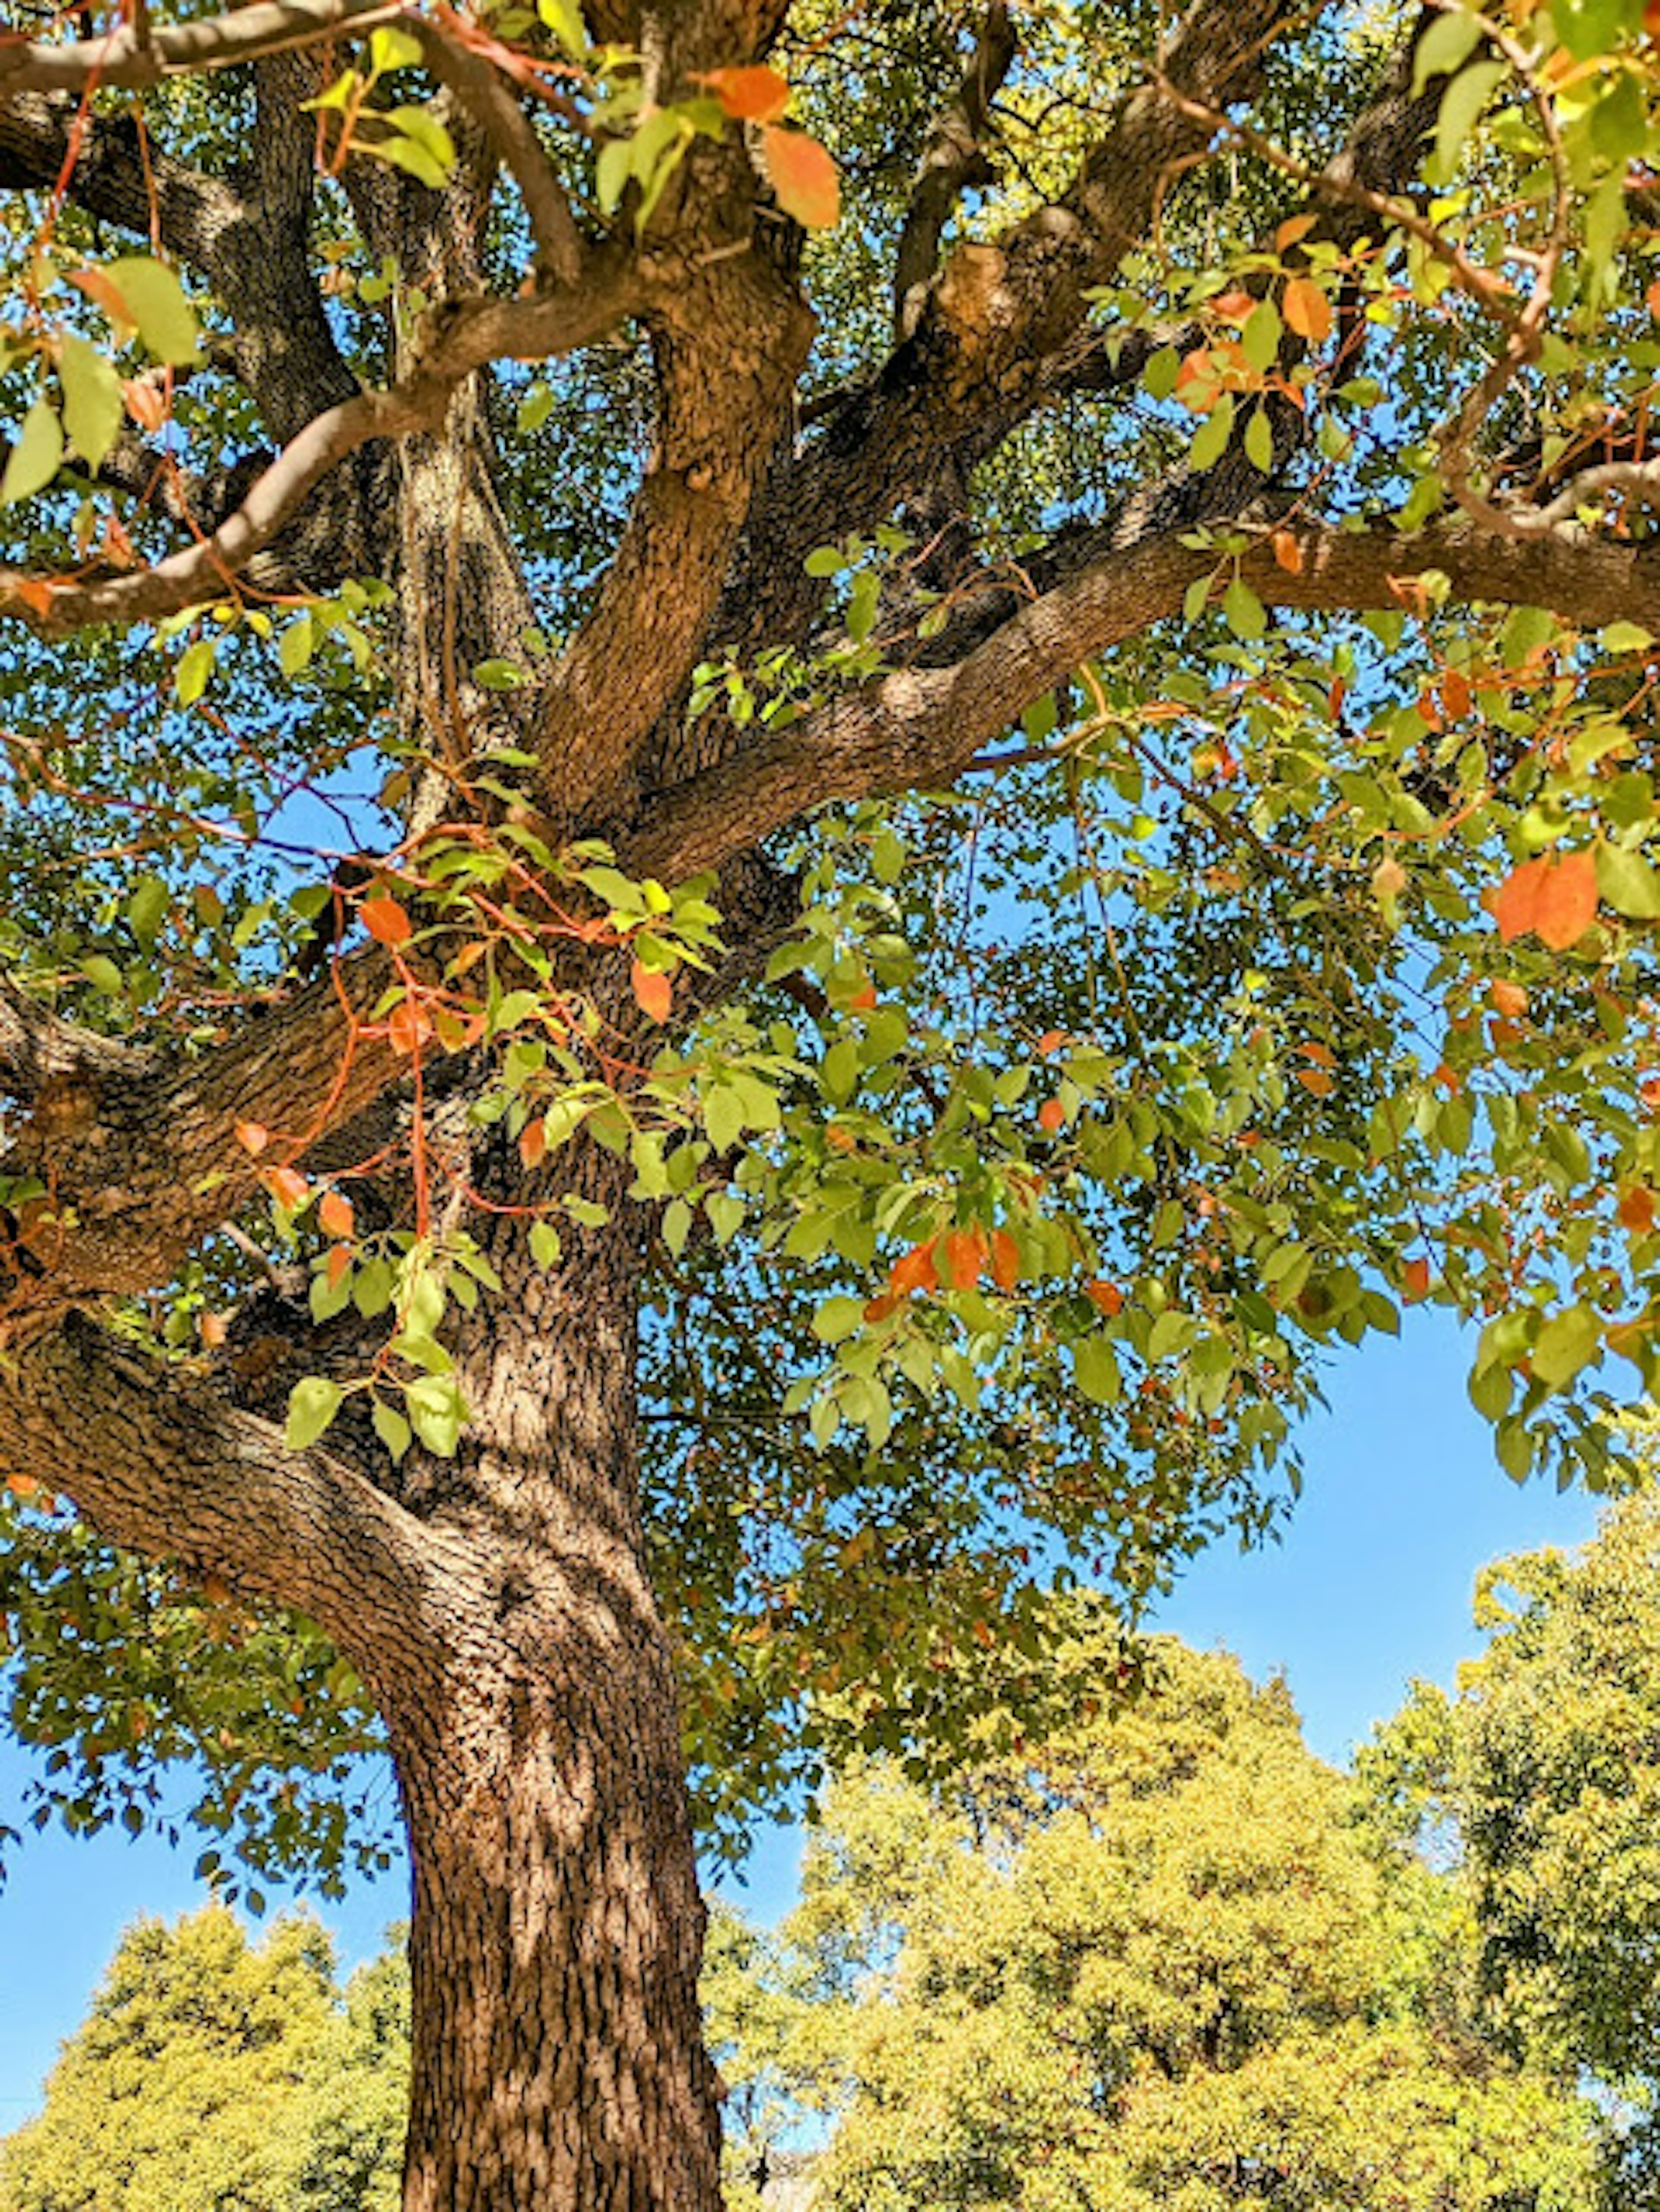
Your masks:
{"label": "clear blue sky patches between foreground canopy and background trees", "polygon": [[[1330,1411],[1306,1431],[1310,1480],[1286,1540],[1246,1557],[1217,1548],[1162,1613],[1162,1626],[1226,1646],[1257,1677],[1282,1670],[1326,1759],[1343,1761],[1410,1677],[1452,1677],[1474,1648],[1470,1588],[1485,1559],[1583,1542],[1596,1522],[1589,1498],[1518,1489],[1498,1471],[1465,1398],[1465,1358],[1459,1332],[1419,1312],[1399,1343],[1372,1338],[1335,1365]],[[24,1776],[22,1759],[0,1750],[0,1820],[15,1816]],[[15,1851],[0,1891],[0,2132],[35,2106],[126,1922],[204,1902],[190,1858],[124,1836],[44,1836]],[[733,1898],[775,1918],[795,1860],[792,1832],[761,1838]],[[354,1964],[405,1909],[403,1880],[387,1876],[323,1918]]]}

